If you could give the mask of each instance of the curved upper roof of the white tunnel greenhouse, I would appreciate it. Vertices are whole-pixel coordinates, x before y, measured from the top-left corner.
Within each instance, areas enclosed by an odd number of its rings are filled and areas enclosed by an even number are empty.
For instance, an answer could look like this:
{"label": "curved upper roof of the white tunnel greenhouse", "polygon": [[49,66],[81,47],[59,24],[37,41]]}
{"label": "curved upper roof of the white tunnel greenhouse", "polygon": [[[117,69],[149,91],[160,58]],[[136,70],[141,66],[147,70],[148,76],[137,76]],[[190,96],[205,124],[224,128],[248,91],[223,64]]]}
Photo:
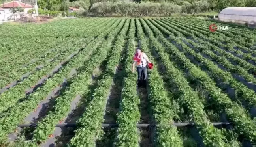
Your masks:
{"label": "curved upper roof of the white tunnel greenhouse", "polygon": [[256,7],[227,7],[219,14],[256,16]]}

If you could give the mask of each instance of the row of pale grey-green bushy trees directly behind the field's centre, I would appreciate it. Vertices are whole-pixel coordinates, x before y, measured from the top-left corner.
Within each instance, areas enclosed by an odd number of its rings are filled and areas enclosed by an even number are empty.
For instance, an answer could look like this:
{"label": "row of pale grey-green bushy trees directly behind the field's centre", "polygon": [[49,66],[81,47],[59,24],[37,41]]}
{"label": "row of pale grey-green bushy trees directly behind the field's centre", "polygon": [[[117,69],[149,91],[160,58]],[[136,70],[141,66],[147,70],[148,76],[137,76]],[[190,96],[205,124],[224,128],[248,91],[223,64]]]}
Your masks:
{"label": "row of pale grey-green bushy trees directly behind the field's centre", "polygon": [[90,9],[93,14],[104,16],[106,14],[118,14],[123,17],[127,16],[171,16],[173,13],[187,13],[195,15],[207,11],[207,2],[205,0],[190,4],[184,2],[183,5],[178,5],[170,2],[97,2]]}

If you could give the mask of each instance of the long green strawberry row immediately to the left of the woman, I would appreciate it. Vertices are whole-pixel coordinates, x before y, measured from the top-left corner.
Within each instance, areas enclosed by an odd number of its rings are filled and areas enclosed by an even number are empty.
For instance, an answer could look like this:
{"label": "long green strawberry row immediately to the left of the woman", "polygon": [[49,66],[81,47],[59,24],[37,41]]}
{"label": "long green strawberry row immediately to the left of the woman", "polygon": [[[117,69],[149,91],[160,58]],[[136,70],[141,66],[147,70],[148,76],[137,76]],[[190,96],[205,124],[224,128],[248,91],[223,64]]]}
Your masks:
{"label": "long green strawberry row immediately to the left of the woman", "polygon": [[126,46],[125,78],[121,93],[120,112],[117,114],[117,147],[139,147],[139,131],[136,124],[140,119],[139,97],[136,85],[137,76],[131,73],[131,65],[134,56],[135,20],[132,19],[128,32],[128,42]]}

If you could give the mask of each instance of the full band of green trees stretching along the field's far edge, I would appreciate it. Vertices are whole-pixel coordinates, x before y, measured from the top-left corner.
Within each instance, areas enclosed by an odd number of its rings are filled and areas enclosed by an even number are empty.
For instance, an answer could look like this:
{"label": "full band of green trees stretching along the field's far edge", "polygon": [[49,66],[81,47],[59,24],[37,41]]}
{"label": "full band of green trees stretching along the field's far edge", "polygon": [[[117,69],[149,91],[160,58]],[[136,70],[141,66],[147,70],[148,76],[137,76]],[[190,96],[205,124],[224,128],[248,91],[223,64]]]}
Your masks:
{"label": "full band of green trees stretching along the field's far edge", "polygon": [[231,6],[256,7],[256,0],[38,0],[38,6],[51,13],[68,13],[68,7],[76,7],[81,9],[79,15],[171,16],[219,12]]}

